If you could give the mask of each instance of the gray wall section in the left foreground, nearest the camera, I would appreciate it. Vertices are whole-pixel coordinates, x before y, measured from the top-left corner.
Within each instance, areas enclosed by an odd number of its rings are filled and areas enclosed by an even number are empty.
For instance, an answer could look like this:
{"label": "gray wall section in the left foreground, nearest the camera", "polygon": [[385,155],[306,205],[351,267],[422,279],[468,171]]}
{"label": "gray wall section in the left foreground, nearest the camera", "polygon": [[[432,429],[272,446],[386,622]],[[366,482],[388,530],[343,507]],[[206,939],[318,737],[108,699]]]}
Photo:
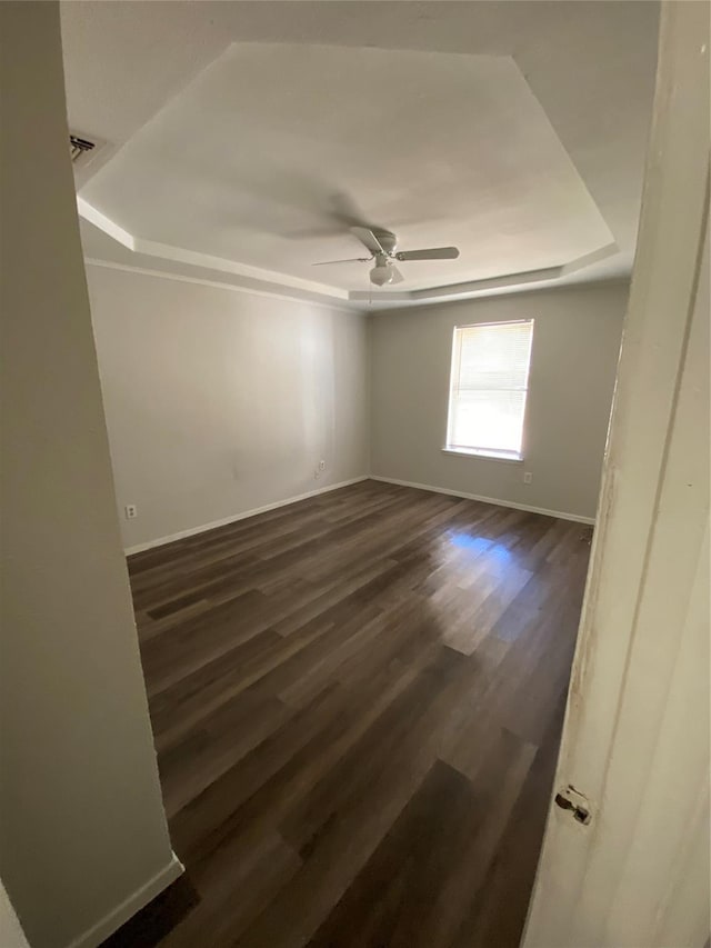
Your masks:
{"label": "gray wall section in the left foreground, nearest the camera", "polygon": [[167,870],[171,848],[116,517],[58,6],[0,3],[0,876],[32,948],[63,948]]}

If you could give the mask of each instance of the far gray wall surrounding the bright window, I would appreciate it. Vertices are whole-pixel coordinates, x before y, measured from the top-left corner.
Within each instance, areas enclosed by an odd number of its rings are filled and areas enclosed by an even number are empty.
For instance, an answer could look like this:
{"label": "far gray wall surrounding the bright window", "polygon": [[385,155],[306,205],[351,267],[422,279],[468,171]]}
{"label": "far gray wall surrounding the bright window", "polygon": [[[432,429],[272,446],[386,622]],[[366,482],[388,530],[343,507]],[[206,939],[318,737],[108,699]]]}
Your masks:
{"label": "far gray wall surrounding the bright window", "polygon": [[[628,291],[615,281],[374,313],[372,473],[594,517]],[[531,317],[524,462],[443,453],[453,328]]]}

